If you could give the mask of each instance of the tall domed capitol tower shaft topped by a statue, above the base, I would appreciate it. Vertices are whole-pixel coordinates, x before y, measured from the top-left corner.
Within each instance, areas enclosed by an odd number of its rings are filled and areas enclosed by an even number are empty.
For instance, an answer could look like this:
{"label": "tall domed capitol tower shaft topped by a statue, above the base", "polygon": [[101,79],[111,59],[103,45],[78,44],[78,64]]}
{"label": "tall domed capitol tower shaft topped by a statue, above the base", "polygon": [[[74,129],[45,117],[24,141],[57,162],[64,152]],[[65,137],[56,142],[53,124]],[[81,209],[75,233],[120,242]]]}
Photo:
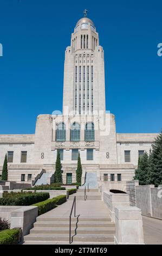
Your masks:
{"label": "tall domed capitol tower shaft topped by a statue, above the base", "polygon": [[104,52],[86,11],[65,51],[63,113],[67,106],[69,113],[79,115],[105,111]]}

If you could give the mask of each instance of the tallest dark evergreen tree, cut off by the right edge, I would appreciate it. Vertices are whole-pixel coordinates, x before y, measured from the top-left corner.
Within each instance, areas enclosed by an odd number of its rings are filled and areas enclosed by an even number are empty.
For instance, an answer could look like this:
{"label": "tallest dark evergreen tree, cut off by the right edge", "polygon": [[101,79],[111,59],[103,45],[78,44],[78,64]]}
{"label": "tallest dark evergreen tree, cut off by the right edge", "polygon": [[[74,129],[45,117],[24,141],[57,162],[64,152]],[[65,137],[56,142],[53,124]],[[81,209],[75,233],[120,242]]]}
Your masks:
{"label": "tallest dark evergreen tree, cut off by the right edge", "polygon": [[162,184],[162,130],[152,144],[150,160],[150,181],[155,187]]}

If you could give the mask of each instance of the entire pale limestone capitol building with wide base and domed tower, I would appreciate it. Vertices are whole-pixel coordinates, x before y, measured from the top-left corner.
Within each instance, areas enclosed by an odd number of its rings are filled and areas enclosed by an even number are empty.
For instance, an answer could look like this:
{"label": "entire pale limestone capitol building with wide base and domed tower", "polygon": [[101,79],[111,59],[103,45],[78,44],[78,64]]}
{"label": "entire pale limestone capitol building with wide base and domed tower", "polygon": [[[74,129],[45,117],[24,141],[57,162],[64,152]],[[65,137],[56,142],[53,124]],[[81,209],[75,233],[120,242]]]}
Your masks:
{"label": "entire pale limestone capitol building with wide base and domed tower", "polygon": [[92,172],[98,185],[125,190],[157,135],[116,133],[115,117],[105,109],[103,48],[93,21],[83,17],[65,51],[63,114],[38,115],[35,134],[0,135],[0,175],[7,153],[9,181],[49,184],[60,150],[63,183],[72,183],[80,152],[83,183]]}

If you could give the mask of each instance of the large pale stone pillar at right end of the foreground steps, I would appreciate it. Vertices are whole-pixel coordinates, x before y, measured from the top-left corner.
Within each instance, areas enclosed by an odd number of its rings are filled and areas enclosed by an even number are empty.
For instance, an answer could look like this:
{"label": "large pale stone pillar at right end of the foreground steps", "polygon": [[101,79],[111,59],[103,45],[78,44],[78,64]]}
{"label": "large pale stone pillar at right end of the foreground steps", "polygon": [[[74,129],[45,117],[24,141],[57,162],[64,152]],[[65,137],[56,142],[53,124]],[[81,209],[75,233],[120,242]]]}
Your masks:
{"label": "large pale stone pillar at right end of the foreground steps", "polygon": [[116,206],[115,244],[144,245],[141,210],[135,206]]}

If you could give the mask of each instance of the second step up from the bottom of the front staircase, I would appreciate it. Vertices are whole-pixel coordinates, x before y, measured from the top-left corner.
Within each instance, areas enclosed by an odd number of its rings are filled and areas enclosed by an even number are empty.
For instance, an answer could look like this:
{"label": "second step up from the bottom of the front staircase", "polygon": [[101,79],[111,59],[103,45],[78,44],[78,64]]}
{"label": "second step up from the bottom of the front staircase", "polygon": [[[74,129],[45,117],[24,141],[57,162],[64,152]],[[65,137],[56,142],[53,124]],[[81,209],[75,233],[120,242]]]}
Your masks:
{"label": "second step up from the bottom of the front staircase", "polygon": [[[29,234],[24,241],[69,241],[69,234]],[[114,234],[77,234],[74,242],[114,242]]]}

